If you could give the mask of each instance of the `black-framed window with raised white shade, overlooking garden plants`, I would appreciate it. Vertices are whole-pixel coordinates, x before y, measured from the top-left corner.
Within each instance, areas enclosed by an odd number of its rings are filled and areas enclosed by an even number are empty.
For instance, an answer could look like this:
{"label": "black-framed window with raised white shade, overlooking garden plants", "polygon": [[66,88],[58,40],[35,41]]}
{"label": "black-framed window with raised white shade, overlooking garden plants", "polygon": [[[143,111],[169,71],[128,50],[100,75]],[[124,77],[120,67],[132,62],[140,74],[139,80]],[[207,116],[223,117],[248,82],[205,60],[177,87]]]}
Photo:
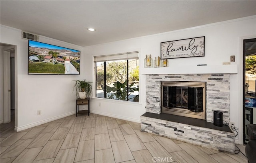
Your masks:
{"label": "black-framed window with raised white shade, overlooking garden plants", "polygon": [[138,52],[94,57],[96,97],[139,101]]}

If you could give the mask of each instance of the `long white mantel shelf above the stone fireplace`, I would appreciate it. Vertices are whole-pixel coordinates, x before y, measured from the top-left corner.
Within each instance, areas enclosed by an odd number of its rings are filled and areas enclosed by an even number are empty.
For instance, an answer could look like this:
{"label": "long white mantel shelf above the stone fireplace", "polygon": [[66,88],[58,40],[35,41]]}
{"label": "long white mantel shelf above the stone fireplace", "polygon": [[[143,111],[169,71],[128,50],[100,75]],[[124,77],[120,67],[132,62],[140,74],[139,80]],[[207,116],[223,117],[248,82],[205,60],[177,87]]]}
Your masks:
{"label": "long white mantel shelf above the stone fireplace", "polygon": [[207,66],[180,66],[142,68],[142,75],[146,74],[237,74],[237,65],[207,65]]}

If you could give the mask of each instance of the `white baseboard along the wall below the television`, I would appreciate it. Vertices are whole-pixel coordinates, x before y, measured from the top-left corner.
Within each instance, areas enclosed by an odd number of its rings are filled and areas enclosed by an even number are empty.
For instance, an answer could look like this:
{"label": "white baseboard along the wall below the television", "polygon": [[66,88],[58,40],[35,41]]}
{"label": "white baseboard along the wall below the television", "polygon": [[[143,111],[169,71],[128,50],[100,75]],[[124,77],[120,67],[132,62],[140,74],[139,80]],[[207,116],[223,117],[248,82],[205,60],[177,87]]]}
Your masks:
{"label": "white baseboard along the wall below the television", "polygon": [[22,130],[26,130],[28,128],[32,128],[32,127],[35,127],[35,126],[38,126],[38,125],[41,125],[41,124],[45,124],[47,122],[52,122],[52,121],[58,120],[60,118],[71,116],[73,114],[76,114],[76,112],[70,112],[70,113],[67,113],[67,114],[63,114],[63,115],[60,115],[60,116],[56,116],[56,117],[53,117],[53,118],[49,118],[49,119],[46,119],[46,120],[42,120],[42,121],[39,121],[39,122],[35,122],[35,123],[32,123],[32,124],[28,124],[28,125],[24,125],[24,126],[20,126],[20,127],[15,126],[14,130],[19,132],[19,131],[22,131]]}

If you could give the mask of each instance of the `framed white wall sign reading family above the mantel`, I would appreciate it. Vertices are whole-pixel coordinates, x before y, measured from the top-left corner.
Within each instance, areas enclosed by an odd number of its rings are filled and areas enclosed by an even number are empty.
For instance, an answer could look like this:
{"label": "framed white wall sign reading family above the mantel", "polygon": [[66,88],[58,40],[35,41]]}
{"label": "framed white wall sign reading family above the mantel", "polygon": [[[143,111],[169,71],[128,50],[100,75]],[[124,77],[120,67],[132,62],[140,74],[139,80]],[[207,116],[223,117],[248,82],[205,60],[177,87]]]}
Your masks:
{"label": "framed white wall sign reading family above the mantel", "polygon": [[161,59],[204,57],[204,36],[161,42]]}

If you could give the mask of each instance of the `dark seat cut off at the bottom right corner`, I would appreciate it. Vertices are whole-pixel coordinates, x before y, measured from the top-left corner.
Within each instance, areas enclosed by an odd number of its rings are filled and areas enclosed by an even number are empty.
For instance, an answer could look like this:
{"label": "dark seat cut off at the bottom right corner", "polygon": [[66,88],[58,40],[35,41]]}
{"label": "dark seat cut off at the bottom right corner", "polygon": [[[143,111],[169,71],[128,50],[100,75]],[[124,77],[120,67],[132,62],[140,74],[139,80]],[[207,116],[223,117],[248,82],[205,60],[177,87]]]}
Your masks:
{"label": "dark seat cut off at the bottom right corner", "polygon": [[249,163],[256,163],[256,124],[247,125],[249,141],[245,146],[245,153]]}

